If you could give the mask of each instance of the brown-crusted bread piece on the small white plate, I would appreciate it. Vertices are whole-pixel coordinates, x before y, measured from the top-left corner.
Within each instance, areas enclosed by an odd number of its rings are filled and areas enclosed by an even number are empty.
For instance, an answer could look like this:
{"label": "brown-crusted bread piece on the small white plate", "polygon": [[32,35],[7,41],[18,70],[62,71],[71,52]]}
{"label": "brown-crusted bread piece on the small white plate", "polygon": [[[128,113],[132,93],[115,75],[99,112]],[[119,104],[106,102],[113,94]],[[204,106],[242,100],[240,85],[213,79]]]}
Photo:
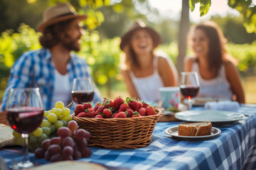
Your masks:
{"label": "brown-crusted bread piece on the small white plate", "polygon": [[211,122],[185,123],[178,125],[178,135],[181,136],[205,136],[210,135]]}

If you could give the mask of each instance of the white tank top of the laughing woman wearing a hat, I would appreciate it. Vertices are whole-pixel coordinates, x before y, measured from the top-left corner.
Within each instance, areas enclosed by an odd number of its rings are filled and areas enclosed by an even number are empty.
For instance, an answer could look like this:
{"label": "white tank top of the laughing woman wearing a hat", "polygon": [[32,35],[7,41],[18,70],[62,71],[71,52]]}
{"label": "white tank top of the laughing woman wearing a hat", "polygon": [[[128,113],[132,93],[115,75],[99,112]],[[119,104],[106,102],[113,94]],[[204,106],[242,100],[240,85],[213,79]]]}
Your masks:
{"label": "white tank top of the laughing woman wearing a hat", "polygon": [[154,74],[148,77],[135,77],[132,71],[129,72],[139,98],[143,101],[157,102],[161,99],[159,87],[163,87],[164,83],[158,73],[158,59],[159,57],[154,57]]}

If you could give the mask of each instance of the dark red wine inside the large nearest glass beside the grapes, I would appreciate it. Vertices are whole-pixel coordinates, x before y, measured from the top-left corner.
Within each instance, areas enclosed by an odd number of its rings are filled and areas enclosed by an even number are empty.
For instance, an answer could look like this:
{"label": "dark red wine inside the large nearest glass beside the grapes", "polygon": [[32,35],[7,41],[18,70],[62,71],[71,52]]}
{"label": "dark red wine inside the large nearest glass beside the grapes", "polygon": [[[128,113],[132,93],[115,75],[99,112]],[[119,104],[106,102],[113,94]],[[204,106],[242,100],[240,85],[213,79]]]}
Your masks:
{"label": "dark red wine inside the large nearest glass beside the grapes", "polygon": [[31,133],[43,120],[43,110],[34,107],[11,108],[6,114],[7,120],[16,132]]}

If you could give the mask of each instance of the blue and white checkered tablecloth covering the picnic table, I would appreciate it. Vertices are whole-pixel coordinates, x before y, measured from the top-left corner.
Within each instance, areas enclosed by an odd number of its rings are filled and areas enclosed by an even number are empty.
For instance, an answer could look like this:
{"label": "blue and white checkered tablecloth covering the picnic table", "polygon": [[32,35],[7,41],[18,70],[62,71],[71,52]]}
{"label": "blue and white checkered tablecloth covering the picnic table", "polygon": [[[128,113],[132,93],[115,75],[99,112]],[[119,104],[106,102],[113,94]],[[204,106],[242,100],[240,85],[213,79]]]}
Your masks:
{"label": "blue and white checkered tablecloth covering the picnic table", "polygon": [[[198,108],[201,109],[201,108]],[[221,125],[217,137],[203,141],[174,140],[164,130],[183,122],[156,123],[151,144],[138,149],[92,148],[92,156],[80,159],[105,166],[129,169],[241,169],[250,147],[256,144],[256,105],[242,105],[239,113],[246,115],[232,125]],[[18,152],[18,153],[17,153]],[[21,149],[1,149],[6,164],[21,160]],[[48,164],[45,159],[32,162]]]}

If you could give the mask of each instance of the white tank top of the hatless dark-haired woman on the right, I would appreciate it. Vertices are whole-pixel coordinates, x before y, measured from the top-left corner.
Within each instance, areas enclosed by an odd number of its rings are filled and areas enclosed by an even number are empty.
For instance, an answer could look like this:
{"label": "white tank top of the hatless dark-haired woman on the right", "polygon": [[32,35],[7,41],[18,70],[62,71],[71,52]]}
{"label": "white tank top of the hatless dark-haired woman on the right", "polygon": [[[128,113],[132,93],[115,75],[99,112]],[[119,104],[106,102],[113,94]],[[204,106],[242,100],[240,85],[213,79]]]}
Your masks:
{"label": "white tank top of the hatless dark-haired woman on the right", "polygon": [[218,76],[213,79],[203,79],[199,73],[198,63],[193,62],[192,72],[198,73],[200,89],[197,97],[223,98],[232,100],[232,91],[225,75],[225,66],[222,64]]}

